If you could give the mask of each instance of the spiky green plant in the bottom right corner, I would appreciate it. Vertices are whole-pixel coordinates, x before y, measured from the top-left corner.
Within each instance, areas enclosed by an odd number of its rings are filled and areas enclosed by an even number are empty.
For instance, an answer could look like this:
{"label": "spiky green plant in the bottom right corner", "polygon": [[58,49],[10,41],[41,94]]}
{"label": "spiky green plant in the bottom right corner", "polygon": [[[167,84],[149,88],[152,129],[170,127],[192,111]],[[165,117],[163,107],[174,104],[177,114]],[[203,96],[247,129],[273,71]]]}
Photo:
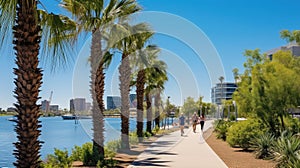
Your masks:
{"label": "spiky green plant in the bottom right corner", "polygon": [[277,167],[300,165],[300,137],[284,131],[274,144],[274,160]]}

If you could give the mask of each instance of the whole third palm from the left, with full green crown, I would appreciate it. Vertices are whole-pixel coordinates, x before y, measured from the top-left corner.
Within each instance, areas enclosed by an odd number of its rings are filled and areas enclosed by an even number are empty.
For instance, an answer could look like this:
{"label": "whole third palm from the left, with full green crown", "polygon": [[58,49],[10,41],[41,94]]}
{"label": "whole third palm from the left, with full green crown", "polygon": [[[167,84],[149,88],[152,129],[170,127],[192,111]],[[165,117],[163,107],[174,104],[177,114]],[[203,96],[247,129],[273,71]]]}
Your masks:
{"label": "whole third palm from the left, with full green crown", "polygon": [[[144,44],[140,41],[141,37],[149,34],[149,26],[145,23],[129,25],[125,20],[121,20],[114,25],[114,31],[110,33],[110,44],[122,53],[122,62],[119,66],[119,80],[121,92],[121,147],[129,149],[129,90],[131,67],[129,56],[133,55],[137,49]],[[145,41],[146,42],[146,41]]]}

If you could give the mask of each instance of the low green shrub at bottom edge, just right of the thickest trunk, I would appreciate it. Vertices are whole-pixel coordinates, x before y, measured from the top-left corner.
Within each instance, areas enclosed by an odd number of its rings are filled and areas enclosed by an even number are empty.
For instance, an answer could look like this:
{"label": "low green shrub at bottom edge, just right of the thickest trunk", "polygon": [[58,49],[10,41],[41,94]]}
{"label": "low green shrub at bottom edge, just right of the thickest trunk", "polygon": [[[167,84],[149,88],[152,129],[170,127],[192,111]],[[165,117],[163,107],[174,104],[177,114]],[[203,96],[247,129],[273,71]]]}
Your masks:
{"label": "low green shrub at bottom edge, just right of the thickest trunk", "polygon": [[54,148],[54,154],[47,155],[46,162],[41,166],[44,168],[68,168],[72,165],[67,150],[59,150]]}

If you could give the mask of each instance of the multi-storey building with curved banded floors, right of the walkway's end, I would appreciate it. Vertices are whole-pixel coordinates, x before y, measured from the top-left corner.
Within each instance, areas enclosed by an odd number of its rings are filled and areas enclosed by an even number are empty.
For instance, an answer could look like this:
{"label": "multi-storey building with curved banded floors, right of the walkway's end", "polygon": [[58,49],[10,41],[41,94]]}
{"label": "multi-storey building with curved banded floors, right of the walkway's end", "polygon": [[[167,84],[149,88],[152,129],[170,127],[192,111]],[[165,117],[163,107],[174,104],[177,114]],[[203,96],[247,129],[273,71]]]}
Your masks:
{"label": "multi-storey building with curved banded floors, right of the walkway's end", "polygon": [[232,94],[236,89],[236,83],[217,83],[216,86],[211,89],[211,102],[213,104],[221,105],[222,100],[232,99]]}

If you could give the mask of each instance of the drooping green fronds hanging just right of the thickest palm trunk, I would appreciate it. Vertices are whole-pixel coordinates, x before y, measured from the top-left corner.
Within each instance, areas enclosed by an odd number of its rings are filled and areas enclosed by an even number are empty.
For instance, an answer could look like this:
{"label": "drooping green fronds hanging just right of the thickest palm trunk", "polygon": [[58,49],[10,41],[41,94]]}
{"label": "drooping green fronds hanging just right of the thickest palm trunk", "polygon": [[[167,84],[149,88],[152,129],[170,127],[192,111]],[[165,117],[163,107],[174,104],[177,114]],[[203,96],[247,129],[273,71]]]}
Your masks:
{"label": "drooping green fronds hanging just right of the thickest palm trunk", "polygon": [[51,69],[64,66],[74,54],[72,46],[78,36],[76,23],[63,15],[47,13],[39,10],[42,26],[43,46],[45,63],[52,62]]}

